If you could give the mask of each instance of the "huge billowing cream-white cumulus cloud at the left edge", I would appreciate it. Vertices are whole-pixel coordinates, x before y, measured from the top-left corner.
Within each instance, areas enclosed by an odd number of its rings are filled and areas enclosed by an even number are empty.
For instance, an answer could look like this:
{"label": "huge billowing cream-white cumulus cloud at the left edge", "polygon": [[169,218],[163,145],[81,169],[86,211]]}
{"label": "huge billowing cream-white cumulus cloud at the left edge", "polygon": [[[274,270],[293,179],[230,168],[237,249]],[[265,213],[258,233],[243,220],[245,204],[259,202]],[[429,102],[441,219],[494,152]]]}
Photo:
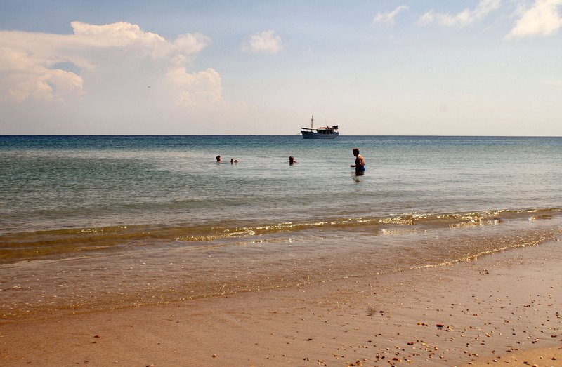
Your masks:
{"label": "huge billowing cream-white cumulus cloud at the left edge", "polygon": [[128,22],[71,26],[73,34],[0,31],[0,101],[88,100],[109,108],[102,105],[111,102],[105,96],[126,100],[150,84],[178,104],[221,98],[214,69],[190,71],[210,44],[203,34],[168,41]]}

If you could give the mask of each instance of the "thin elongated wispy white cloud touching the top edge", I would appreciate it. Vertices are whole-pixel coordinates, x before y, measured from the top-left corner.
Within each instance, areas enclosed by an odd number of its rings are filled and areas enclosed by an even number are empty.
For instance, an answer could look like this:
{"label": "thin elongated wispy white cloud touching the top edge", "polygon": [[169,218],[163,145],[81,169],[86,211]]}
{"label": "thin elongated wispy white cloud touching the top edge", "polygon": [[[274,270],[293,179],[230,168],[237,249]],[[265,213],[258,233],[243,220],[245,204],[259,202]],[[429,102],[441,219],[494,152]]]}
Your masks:
{"label": "thin elongated wispy white cloud touching the top edge", "polygon": [[444,27],[466,27],[483,20],[486,15],[495,11],[501,5],[501,0],[481,0],[474,10],[464,9],[457,14],[439,13],[436,11],[428,11],[421,15],[418,23],[420,25],[429,25],[437,23]]}

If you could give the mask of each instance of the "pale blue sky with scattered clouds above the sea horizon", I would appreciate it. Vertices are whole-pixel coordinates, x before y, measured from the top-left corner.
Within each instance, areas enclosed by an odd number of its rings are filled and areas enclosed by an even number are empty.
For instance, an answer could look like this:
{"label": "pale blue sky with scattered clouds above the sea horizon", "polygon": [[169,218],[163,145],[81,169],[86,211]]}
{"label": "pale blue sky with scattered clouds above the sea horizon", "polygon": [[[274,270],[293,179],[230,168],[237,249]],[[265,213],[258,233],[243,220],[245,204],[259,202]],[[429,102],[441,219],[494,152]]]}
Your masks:
{"label": "pale blue sky with scattered clouds above the sea horizon", "polygon": [[562,136],[562,0],[0,0],[0,135]]}

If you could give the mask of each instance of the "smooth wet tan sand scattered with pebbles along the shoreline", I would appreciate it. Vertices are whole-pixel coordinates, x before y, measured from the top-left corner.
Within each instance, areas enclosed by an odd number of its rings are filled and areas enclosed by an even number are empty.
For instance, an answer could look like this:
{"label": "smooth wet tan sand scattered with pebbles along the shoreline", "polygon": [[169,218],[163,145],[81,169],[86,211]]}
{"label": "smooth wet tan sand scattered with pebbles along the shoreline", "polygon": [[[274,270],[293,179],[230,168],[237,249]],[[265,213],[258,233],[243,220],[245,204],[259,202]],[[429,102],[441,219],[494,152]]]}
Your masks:
{"label": "smooth wet tan sand scattered with pebbles along the shoreline", "polygon": [[0,325],[2,366],[562,366],[562,242]]}

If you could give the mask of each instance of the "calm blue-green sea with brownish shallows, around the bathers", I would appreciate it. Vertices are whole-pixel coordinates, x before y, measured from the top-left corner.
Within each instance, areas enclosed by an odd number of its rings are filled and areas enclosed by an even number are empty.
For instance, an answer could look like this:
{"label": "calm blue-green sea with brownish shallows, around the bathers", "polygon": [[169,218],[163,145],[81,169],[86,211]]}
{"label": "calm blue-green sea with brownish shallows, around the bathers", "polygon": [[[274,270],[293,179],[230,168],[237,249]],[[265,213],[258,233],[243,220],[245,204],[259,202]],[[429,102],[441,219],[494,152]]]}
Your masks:
{"label": "calm blue-green sea with brownish shallows, around the bathers", "polygon": [[[365,175],[350,168],[354,147]],[[562,138],[0,136],[0,316],[158,305],[540,246],[562,234],[561,162]]]}

